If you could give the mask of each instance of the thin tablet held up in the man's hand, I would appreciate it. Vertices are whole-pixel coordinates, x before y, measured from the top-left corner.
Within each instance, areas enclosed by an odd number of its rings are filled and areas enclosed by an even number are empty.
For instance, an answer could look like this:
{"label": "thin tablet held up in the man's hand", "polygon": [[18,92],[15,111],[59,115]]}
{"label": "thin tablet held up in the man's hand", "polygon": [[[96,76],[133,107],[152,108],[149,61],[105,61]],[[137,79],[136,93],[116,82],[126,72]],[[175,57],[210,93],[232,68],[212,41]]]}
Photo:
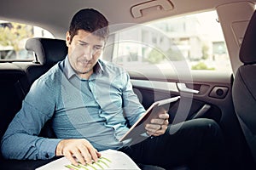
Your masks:
{"label": "thin tablet held up in the man's hand", "polygon": [[177,101],[177,99],[180,99],[180,96],[154,102],[145,114],[134,123],[129,131],[119,139],[119,142],[126,141],[126,143],[129,144],[136,144],[147,139],[148,133],[146,133],[147,131],[145,129],[146,124],[148,124],[151,119],[158,117],[160,112],[169,111],[170,104]]}

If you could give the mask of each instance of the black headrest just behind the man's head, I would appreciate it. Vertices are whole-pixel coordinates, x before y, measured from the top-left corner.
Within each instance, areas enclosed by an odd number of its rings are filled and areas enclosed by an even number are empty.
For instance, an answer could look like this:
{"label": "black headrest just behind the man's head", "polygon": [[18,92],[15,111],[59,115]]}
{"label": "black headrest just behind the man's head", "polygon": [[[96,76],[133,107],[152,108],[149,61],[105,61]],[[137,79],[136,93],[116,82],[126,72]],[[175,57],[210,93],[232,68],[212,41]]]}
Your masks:
{"label": "black headrest just behind the man's head", "polygon": [[53,65],[67,56],[67,45],[64,40],[34,37],[26,41],[26,49],[36,54],[42,65]]}

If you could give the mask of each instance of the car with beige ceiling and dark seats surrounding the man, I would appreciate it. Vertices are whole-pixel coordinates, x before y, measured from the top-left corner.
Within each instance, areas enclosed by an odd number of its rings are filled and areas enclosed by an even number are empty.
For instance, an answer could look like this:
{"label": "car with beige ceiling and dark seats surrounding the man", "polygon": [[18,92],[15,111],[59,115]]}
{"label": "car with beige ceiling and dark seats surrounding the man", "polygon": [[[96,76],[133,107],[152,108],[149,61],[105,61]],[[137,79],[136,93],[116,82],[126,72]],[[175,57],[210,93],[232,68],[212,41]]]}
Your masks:
{"label": "car with beige ceiling and dark seats surrounding the man", "polygon": [[[129,72],[134,92],[143,106],[147,109],[156,100],[180,95],[180,101],[171,105],[168,112],[170,123],[200,117],[215,120],[224,132],[230,169],[255,169],[256,95],[255,90],[250,90],[255,87],[253,70],[245,74],[245,86],[252,83],[246,88],[247,93],[236,84],[243,83],[241,66],[251,66],[256,60],[255,41],[250,43],[249,38],[255,33],[249,30],[245,34],[255,3],[255,0],[1,1],[1,137],[20,110],[32,82],[66,56],[64,40],[73,14],[80,8],[96,8],[110,23],[111,34],[102,59]],[[256,20],[252,22],[251,29],[256,32],[253,28]],[[243,42],[244,35],[247,42]],[[25,50],[26,40],[33,37],[42,37],[44,48],[60,58],[45,61],[40,52],[30,47]],[[44,38],[53,41],[44,43]],[[4,52],[10,46],[11,57]],[[246,59],[241,57],[243,54]],[[251,55],[254,59],[247,57]],[[41,132],[42,136],[50,135],[47,128]],[[47,162],[4,160],[1,156],[0,167],[34,169]]]}

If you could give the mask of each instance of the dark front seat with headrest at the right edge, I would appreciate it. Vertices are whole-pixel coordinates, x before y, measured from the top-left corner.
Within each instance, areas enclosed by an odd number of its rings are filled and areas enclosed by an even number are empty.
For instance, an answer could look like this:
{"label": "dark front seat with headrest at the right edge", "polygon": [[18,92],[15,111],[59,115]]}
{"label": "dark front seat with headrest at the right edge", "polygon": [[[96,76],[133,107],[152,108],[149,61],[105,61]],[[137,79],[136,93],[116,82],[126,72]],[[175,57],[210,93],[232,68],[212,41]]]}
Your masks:
{"label": "dark front seat with headrest at the right edge", "polygon": [[256,12],[247,26],[240,49],[241,65],[236,71],[232,94],[236,115],[256,162]]}

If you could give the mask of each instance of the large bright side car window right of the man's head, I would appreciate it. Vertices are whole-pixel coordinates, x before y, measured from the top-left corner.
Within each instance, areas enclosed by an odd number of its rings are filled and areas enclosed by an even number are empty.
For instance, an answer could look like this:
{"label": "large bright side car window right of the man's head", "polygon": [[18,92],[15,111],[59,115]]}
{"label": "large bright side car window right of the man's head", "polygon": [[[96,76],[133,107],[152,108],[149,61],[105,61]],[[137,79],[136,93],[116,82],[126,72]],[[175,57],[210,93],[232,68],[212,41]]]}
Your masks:
{"label": "large bright side car window right of the man's head", "polygon": [[[170,69],[185,61],[190,70],[231,71],[216,11],[132,26],[110,37],[112,62],[127,69]],[[109,55],[108,55],[109,56]]]}

